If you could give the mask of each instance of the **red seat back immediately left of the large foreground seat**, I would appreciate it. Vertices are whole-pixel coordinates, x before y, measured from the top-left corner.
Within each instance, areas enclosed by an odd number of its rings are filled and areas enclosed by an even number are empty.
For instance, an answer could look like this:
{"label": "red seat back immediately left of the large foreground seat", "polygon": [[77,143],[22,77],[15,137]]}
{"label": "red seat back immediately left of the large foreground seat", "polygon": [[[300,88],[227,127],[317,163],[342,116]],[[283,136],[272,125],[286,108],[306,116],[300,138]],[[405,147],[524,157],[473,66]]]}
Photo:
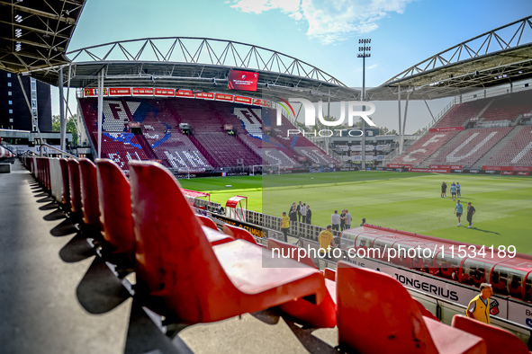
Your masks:
{"label": "red seat back immediately left of the large foreground seat", "polygon": [[134,257],[130,182],[113,161],[96,159],[102,235],[113,252]]}

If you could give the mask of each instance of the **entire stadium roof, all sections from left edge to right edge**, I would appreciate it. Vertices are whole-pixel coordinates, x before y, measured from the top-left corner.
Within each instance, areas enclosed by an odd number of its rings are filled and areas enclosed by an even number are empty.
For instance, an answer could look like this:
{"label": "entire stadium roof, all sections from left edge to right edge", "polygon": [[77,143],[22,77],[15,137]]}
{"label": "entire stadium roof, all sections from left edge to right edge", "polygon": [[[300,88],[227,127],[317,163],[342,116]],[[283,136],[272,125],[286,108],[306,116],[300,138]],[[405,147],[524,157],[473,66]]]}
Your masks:
{"label": "entire stadium roof, all sections from left edge to right edge", "polygon": [[[230,40],[173,37],[124,40],[65,53],[86,0],[0,0],[0,68],[71,87],[183,88],[228,92],[231,68],[259,73],[257,98],[350,101],[360,92],[315,66],[275,50]],[[7,10],[7,11],[5,11]],[[434,99],[532,78],[532,16],[485,32],[419,62],[370,89],[368,100]],[[64,70],[68,83],[68,70]]]}

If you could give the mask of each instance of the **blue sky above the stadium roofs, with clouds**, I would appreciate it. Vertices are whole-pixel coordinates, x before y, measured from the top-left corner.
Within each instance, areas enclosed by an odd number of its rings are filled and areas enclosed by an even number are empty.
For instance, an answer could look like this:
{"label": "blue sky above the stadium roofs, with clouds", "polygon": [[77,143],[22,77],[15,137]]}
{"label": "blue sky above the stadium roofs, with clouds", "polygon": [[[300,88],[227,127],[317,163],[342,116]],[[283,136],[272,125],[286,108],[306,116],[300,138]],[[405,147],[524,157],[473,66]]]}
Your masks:
{"label": "blue sky above the stadium roofs, with clouds", "polygon": [[236,40],[299,58],[344,84],[361,86],[358,39],[371,38],[366,86],[375,86],[531,13],[530,0],[88,0],[68,50],[147,37]]}

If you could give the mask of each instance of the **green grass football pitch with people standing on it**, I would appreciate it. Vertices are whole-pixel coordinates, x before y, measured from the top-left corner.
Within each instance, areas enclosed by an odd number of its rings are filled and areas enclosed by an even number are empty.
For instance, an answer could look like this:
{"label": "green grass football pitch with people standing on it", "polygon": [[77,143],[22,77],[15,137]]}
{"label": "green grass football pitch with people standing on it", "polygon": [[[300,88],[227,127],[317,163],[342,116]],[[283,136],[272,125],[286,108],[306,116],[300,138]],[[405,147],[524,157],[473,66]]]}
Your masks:
{"label": "green grass football pitch with people standing on it", "polygon": [[[473,228],[465,216],[458,227],[455,201],[442,199],[441,183],[459,181],[464,213],[476,208]],[[335,209],[347,208],[353,227],[368,224],[486,246],[513,245],[532,254],[532,180],[473,174],[344,172],[302,173],[180,180],[190,190],[211,193],[221,203],[248,197],[248,208],[280,217],[293,201],[311,205],[312,224],[327,226]]]}

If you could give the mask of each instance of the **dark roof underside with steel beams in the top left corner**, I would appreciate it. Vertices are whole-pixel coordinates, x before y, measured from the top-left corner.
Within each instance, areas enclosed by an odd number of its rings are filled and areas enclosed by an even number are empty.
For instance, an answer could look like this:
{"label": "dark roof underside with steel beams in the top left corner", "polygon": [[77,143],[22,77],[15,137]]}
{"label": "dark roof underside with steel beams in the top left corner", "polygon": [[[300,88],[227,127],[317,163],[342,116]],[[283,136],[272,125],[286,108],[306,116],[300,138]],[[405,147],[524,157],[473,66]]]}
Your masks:
{"label": "dark roof underside with steel beams in the top left corner", "polygon": [[[0,0],[0,68],[22,74],[68,64],[65,51],[85,2]],[[48,81],[40,75],[32,76]]]}

